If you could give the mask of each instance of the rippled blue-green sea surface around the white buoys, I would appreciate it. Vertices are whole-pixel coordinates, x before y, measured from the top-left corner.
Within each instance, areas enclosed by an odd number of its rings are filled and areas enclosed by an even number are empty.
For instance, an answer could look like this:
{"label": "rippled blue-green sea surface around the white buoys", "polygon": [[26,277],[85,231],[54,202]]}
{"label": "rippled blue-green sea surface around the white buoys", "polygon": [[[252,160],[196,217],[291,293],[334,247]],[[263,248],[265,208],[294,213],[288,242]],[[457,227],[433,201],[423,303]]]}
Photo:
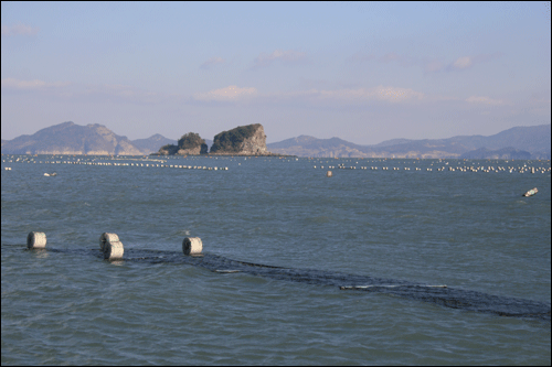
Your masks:
{"label": "rippled blue-green sea surface around the white buoys", "polygon": [[550,161],[1,165],[2,365],[551,364]]}

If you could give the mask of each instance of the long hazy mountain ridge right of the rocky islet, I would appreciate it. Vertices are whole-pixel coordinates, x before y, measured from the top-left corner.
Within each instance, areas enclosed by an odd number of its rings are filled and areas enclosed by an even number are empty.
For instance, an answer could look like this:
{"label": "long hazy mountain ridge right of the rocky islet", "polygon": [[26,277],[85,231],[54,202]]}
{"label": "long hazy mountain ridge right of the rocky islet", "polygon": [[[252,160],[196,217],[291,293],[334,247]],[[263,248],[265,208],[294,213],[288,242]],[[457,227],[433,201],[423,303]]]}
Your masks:
{"label": "long hazy mountain ridge right of the rocky islet", "polygon": [[[359,145],[339,138],[317,139],[308,136],[269,143],[267,148],[278,154],[299,156],[357,156],[357,158],[465,158],[526,156],[550,159],[551,126],[516,127],[490,137],[457,136],[448,139],[393,139],[375,145]],[[501,151],[503,149],[507,149]],[[468,155],[463,155],[468,154]],[[487,155],[486,155],[487,154]],[[512,155],[513,154],[513,155]],[[520,155],[521,154],[521,155]]]}

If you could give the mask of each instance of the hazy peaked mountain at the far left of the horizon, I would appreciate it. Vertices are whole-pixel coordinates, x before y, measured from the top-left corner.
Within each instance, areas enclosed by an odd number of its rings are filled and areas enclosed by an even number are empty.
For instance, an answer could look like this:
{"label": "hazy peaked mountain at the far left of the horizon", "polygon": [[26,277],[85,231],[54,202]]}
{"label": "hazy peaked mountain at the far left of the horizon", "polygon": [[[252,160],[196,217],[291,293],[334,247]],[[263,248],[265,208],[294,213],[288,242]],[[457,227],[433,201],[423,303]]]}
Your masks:
{"label": "hazy peaked mountain at the far left of the horizon", "polygon": [[10,154],[94,154],[142,155],[127,137],[115,134],[103,125],[79,126],[71,121],[21,136],[2,143]]}

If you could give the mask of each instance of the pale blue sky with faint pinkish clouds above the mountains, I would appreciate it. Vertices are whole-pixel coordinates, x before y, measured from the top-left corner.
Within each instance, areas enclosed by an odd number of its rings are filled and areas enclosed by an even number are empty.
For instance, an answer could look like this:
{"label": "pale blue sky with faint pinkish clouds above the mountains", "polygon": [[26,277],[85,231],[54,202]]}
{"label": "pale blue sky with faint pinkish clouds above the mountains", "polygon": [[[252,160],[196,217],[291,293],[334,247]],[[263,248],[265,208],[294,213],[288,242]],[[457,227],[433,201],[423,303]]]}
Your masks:
{"label": "pale blue sky with faint pinkish clouds above the mountains", "polygon": [[1,134],[262,123],[358,144],[551,121],[550,2],[1,2]]}

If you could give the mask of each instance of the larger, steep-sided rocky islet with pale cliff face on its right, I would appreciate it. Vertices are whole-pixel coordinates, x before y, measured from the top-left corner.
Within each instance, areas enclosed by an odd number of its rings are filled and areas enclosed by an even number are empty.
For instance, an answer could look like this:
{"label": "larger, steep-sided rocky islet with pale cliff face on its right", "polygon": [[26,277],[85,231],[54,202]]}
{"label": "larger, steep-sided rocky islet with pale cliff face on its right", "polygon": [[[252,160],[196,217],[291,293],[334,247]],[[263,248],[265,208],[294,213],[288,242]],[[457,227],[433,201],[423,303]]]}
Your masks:
{"label": "larger, steep-sided rocky islet with pale cliff face on its right", "polygon": [[240,126],[214,137],[211,154],[273,155],[266,149],[266,134],[261,123]]}

